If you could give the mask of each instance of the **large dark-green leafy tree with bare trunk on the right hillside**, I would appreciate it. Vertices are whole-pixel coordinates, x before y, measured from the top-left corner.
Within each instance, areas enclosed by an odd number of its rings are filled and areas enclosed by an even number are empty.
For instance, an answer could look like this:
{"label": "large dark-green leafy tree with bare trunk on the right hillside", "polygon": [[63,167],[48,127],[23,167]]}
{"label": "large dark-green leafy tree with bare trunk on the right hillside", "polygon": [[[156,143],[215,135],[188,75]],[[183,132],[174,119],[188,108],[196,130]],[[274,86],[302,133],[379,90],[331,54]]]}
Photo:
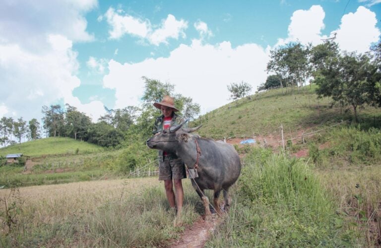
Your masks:
{"label": "large dark-green leafy tree with bare trunk on the right hillside", "polygon": [[355,120],[357,108],[372,102],[372,74],[375,71],[367,55],[339,54],[335,43],[326,42],[313,49],[314,82],[319,97],[332,97],[340,106],[350,105]]}

